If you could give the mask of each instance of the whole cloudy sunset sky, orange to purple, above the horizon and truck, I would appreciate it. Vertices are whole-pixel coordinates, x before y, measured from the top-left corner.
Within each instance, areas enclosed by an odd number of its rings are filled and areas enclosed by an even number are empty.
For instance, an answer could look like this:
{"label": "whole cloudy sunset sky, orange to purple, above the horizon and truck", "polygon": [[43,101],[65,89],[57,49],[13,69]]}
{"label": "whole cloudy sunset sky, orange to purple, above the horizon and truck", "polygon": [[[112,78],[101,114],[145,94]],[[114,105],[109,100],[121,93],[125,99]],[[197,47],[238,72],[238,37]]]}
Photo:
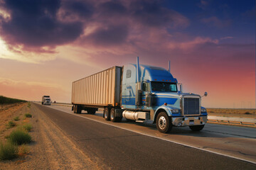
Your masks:
{"label": "whole cloudy sunset sky, orange to purple, above the horizon and truck", "polygon": [[207,108],[255,108],[255,0],[0,0],[0,95],[70,103],[112,66],[168,69]]}

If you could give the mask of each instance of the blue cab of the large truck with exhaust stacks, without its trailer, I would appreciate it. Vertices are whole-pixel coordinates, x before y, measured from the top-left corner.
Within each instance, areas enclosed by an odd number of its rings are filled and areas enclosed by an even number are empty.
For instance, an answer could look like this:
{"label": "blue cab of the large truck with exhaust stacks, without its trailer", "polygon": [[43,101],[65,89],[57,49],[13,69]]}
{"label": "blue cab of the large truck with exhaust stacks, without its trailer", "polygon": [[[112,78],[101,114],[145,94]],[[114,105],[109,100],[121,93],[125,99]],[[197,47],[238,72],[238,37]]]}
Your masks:
{"label": "blue cab of the large truck with exhaust stacks, without its trailer", "polygon": [[[207,122],[201,96],[178,90],[178,81],[164,68],[139,64],[124,65],[120,108],[122,117],[156,123],[160,132],[173,126],[202,130]],[[205,93],[207,96],[207,93]]]}

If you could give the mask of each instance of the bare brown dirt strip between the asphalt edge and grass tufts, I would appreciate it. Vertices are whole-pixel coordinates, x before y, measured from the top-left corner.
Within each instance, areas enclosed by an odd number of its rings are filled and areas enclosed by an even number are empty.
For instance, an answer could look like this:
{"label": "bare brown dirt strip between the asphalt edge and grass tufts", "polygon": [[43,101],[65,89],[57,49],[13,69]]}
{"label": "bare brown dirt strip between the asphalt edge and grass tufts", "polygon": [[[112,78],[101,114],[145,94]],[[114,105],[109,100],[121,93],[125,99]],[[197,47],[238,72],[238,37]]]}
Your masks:
{"label": "bare brown dirt strip between the asphalt edge and grass tufts", "polygon": [[[100,169],[33,103],[28,110],[33,115],[30,151],[26,156],[1,161],[0,169]],[[27,112],[27,106],[16,112]]]}

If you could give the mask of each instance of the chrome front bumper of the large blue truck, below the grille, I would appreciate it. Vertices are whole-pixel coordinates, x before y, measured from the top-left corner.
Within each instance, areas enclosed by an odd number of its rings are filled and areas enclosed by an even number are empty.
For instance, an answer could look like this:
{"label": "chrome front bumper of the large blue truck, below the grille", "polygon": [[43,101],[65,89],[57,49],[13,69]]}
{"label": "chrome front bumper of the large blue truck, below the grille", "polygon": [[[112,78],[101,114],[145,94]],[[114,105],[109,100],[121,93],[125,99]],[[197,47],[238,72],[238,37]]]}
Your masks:
{"label": "chrome front bumper of the large blue truck, below the grille", "polygon": [[172,124],[174,126],[190,126],[190,125],[204,125],[207,122],[207,115],[205,116],[193,116],[193,117],[172,117]]}

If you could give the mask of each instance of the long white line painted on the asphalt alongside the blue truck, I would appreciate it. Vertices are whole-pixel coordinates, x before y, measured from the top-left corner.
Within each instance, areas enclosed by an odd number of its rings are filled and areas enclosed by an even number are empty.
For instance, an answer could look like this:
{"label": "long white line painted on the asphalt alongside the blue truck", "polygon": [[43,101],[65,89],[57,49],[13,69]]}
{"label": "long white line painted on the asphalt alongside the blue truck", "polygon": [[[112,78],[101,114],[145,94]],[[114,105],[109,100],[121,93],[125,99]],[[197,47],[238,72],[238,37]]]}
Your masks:
{"label": "long white line painted on the asphalt alongside the blue truck", "polygon": [[[52,108],[52,107],[50,107],[50,106],[47,106],[47,107]],[[55,109],[55,110],[57,110],[57,111],[60,111],[60,110],[58,110],[58,108],[53,108],[53,109]],[[85,118],[85,117],[83,117],[82,115],[76,115],[76,114],[74,114],[74,113],[69,113],[69,112],[67,112],[67,111],[63,111],[63,112],[68,113],[68,114],[70,114],[70,115],[78,116],[78,117],[80,117],[80,118]],[[109,124],[109,123],[104,123],[104,122],[101,122],[101,121],[99,121],[99,120],[94,120],[94,119],[92,119],[92,118],[85,118],[85,119],[89,119],[89,120],[95,121],[95,122],[97,122],[97,123],[103,123],[103,124],[105,124],[105,125],[110,125],[110,126],[113,126],[113,127],[115,127],[115,128],[120,128],[120,129],[122,129],[122,130],[128,130],[128,129],[119,127],[119,126],[117,126],[117,125],[111,125],[111,124]],[[136,133],[138,133],[138,134],[140,134],[140,135],[145,135],[145,136],[148,136],[148,137],[154,137],[154,138],[156,138],[156,139],[164,140],[164,141],[167,141],[167,142],[172,142],[172,143],[175,143],[175,144],[177,144],[177,145],[183,145],[183,146],[191,147],[191,148],[194,148],[194,149],[200,149],[200,150],[203,150],[203,151],[205,151],[205,152],[210,152],[210,153],[213,153],[213,154],[218,154],[218,155],[221,155],[221,156],[230,157],[230,158],[233,158],[233,159],[238,159],[238,160],[240,160],[240,161],[250,162],[250,163],[252,163],[252,164],[256,164],[256,162],[252,162],[252,161],[250,161],[250,160],[246,160],[246,159],[242,159],[242,158],[238,158],[238,157],[233,157],[233,156],[230,156],[230,155],[228,155],[228,154],[222,154],[222,153],[210,151],[210,150],[207,150],[207,149],[203,149],[203,148],[200,148],[200,147],[193,147],[193,146],[191,146],[191,145],[186,145],[186,144],[183,144],[183,143],[180,143],[180,142],[174,142],[174,141],[171,141],[171,140],[162,139],[162,138],[160,138],[160,137],[155,137],[155,136],[152,136],[152,135],[147,135],[147,134],[144,134],[144,133],[142,133],[142,132],[137,132],[137,131],[134,131],[134,130],[128,130],[128,131],[130,131],[130,132],[136,132]]]}

